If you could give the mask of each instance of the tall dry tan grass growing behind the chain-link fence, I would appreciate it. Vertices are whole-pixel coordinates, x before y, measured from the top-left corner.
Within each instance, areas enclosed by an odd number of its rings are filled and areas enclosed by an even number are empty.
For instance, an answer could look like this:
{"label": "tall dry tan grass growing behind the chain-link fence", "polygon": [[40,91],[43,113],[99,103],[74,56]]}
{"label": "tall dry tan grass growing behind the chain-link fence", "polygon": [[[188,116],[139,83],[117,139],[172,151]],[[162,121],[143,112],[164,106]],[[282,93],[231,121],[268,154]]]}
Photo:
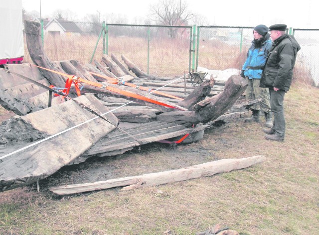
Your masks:
{"label": "tall dry tan grass growing behind the chain-link fence", "polygon": [[[45,36],[44,51],[52,61],[76,59],[81,64],[89,63],[98,36],[81,35],[78,37]],[[121,54],[147,72],[148,39],[141,37],[110,37],[109,55],[113,53],[121,61]],[[247,48],[243,48],[247,51]],[[101,62],[103,52],[100,39],[93,61]],[[189,68],[189,38],[154,38],[150,40],[149,73],[165,76],[181,76]],[[244,56],[243,56],[244,55]],[[209,69],[223,70],[241,68],[246,52],[240,53],[239,46],[228,45],[221,41],[201,43],[198,65]],[[192,56],[192,54],[191,54]],[[31,62],[25,43],[24,62]],[[192,57],[190,61],[192,68]]]}

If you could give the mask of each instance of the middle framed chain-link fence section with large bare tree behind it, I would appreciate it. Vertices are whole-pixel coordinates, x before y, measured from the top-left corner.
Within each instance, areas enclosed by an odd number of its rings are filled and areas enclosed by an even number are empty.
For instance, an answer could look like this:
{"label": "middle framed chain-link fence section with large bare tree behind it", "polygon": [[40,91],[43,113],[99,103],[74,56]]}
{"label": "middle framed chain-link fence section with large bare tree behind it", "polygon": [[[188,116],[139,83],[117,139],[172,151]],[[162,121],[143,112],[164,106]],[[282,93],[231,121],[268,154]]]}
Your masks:
{"label": "middle framed chain-link fence section with large bare tree behind it", "polygon": [[190,70],[191,26],[107,24],[107,54],[121,54],[143,71],[172,76]]}

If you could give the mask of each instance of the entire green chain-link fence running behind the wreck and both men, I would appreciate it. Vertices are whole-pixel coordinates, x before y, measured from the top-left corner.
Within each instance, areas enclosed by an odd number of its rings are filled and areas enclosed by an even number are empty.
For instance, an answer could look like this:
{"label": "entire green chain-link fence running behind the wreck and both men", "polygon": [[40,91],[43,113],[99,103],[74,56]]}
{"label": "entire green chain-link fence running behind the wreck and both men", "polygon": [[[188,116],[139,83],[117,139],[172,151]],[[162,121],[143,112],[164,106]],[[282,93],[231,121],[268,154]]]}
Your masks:
{"label": "entire green chain-link fence running behind the wreck and both men", "polygon": [[[46,22],[43,44],[52,60],[76,59],[85,64],[103,54],[123,54],[143,71],[180,76],[197,66],[214,70],[241,69],[253,40],[253,27],[162,26]],[[296,67],[319,85],[319,29],[289,28],[301,44]],[[25,47],[24,62],[31,62]],[[92,63],[93,63],[92,62]]]}

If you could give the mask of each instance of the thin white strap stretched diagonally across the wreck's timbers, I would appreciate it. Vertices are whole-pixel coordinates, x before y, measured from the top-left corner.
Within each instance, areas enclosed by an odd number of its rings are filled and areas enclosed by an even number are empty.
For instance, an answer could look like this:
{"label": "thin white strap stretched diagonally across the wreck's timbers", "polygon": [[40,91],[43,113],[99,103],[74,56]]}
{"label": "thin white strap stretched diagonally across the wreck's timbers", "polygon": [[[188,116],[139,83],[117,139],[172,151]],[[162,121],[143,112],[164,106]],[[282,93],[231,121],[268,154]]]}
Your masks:
{"label": "thin white strap stretched diagonally across the wreck's timbers", "polygon": [[[183,77],[183,76],[182,76],[182,77]],[[172,81],[172,82],[175,82],[175,81],[177,81],[178,79],[180,79],[180,78],[182,78],[182,77],[179,77],[179,78],[177,78],[176,80],[174,80],[174,81]],[[157,90],[159,90],[159,89],[161,89],[161,88],[163,88],[163,87],[169,85],[169,84],[172,83],[172,82],[167,83],[166,85],[164,85],[164,86],[162,86],[162,87],[156,89],[155,91],[157,91]],[[152,92],[154,92],[154,91],[152,91]],[[152,92],[150,92],[150,94],[151,94]],[[106,113],[103,113],[103,114],[101,114],[101,116],[104,116],[104,115],[106,115],[106,114],[108,114],[108,113],[111,113],[111,112],[113,112],[113,111],[115,111],[115,110],[117,110],[117,109],[119,109],[119,108],[122,108],[122,107],[124,107],[124,106],[126,106],[126,105],[128,105],[128,104],[130,104],[130,103],[132,103],[132,102],[133,102],[133,101],[130,101],[130,102],[126,103],[126,104],[123,104],[123,105],[121,105],[121,106],[115,108],[115,109],[112,109],[112,110],[110,110],[110,111],[108,111],[108,112],[106,112]],[[68,129],[66,129],[66,130],[64,130],[64,131],[61,131],[61,132],[56,133],[56,134],[54,134],[54,135],[51,135],[51,136],[49,136],[49,137],[47,137],[47,138],[45,138],[45,139],[39,140],[39,141],[37,141],[37,142],[34,142],[34,143],[32,143],[32,144],[30,144],[30,145],[28,145],[28,146],[25,146],[25,147],[21,148],[21,149],[18,149],[18,150],[16,150],[16,151],[13,151],[13,152],[11,152],[11,153],[8,153],[8,154],[6,154],[6,155],[4,155],[4,156],[1,156],[1,157],[0,157],[0,160],[2,160],[3,158],[9,157],[9,156],[11,156],[11,155],[13,155],[13,154],[15,154],[15,153],[19,153],[19,152],[21,152],[21,151],[23,151],[23,150],[25,150],[25,149],[28,149],[28,148],[30,148],[30,147],[32,147],[32,146],[34,146],[34,145],[37,145],[37,144],[40,144],[40,143],[42,143],[42,142],[44,142],[44,141],[47,141],[47,140],[49,140],[49,139],[52,139],[52,138],[55,137],[55,136],[61,135],[61,134],[65,133],[65,132],[67,132],[67,131],[70,131],[70,130],[72,130],[72,129],[74,129],[74,128],[77,128],[77,127],[79,127],[79,126],[82,126],[82,125],[84,125],[84,124],[86,124],[86,123],[88,123],[88,122],[90,122],[90,121],[93,121],[93,120],[95,120],[95,119],[97,119],[97,118],[99,118],[99,117],[96,116],[96,117],[94,117],[94,118],[92,118],[92,119],[90,119],[90,120],[87,120],[87,121],[82,122],[82,123],[80,123],[80,124],[78,124],[78,125],[75,125],[75,126],[73,126],[73,127],[70,127],[70,128],[68,128]]]}

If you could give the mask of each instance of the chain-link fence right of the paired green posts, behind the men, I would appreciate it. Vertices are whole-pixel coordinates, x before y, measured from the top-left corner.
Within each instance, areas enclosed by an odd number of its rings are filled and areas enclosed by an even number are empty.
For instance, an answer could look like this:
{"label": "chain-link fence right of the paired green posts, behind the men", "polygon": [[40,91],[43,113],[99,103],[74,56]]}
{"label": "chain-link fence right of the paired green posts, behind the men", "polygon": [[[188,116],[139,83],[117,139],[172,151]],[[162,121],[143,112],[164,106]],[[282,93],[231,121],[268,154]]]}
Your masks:
{"label": "chain-link fence right of the paired green posts, behind the men", "polygon": [[[301,45],[295,68],[319,85],[319,29],[289,28]],[[197,27],[196,67],[241,69],[253,40],[253,27]],[[306,79],[305,79],[306,80]]]}

